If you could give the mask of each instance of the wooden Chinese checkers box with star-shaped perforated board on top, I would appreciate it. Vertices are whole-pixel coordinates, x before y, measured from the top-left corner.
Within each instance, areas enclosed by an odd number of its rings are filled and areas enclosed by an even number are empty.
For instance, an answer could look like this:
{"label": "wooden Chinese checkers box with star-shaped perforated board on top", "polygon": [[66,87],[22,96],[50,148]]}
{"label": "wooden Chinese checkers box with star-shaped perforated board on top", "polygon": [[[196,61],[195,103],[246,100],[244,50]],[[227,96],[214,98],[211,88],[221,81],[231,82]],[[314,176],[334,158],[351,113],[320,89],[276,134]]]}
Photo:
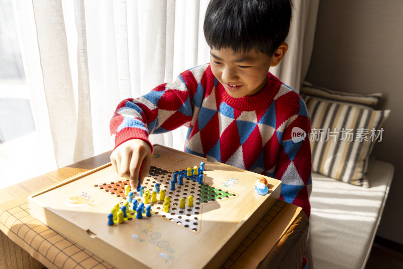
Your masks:
{"label": "wooden Chinese checkers box with star-shaped perforated board on top", "polygon": [[[198,175],[186,176],[187,168],[201,162],[203,184]],[[183,184],[176,183],[171,190],[174,173],[184,176]],[[129,182],[110,163],[31,195],[28,203],[33,217],[117,268],[217,268],[280,196],[281,181],[266,176],[268,193],[255,192],[261,176],[154,145],[150,173],[142,184],[151,193],[145,205],[150,206],[151,217],[146,212],[138,218],[135,207],[126,210],[123,223],[115,219],[112,226],[108,224],[114,207],[131,208],[135,200],[144,201],[132,189],[133,200],[128,203],[124,187]],[[169,212],[159,194],[154,197],[157,201],[151,201],[156,183],[170,197]],[[187,204],[189,195],[194,197],[192,206]]]}

